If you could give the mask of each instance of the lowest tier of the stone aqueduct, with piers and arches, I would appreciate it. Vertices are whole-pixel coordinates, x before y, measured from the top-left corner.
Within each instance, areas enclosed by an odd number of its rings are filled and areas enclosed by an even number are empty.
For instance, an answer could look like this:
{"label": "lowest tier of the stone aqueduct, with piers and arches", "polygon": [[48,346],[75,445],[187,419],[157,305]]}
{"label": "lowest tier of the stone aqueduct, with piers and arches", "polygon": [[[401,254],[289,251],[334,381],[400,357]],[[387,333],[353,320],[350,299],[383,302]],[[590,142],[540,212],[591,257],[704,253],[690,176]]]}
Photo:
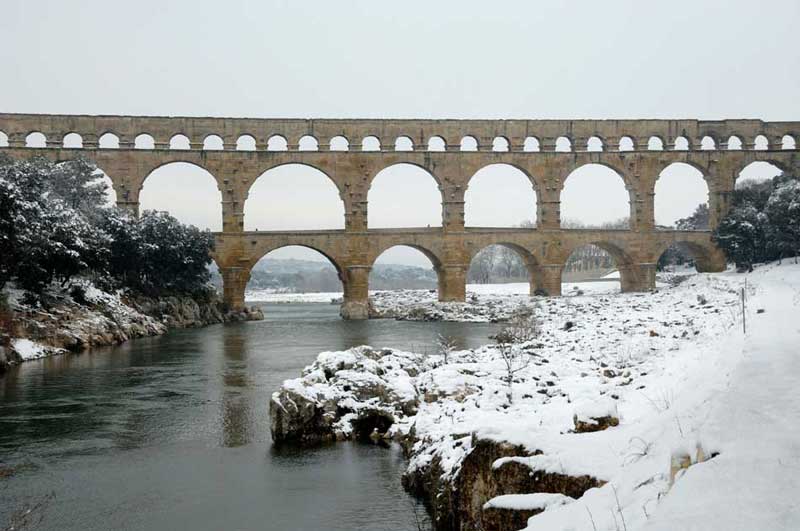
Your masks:
{"label": "lowest tier of the stone aqueduct, with piers and arches", "polygon": [[217,233],[214,259],[223,279],[223,296],[232,309],[245,304],[245,290],[253,266],[267,253],[287,246],[318,251],[336,268],[344,297],[345,319],[366,319],[369,308],[369,274],[387,249],[408,246],[421,251],[438,277],[439,300],[466,300],[467,271],[482,249],[501,245],[516,252],[525,263],[531,295],[561,295],[562,275],[573,252],[594,245],[613,258],[623,292],[655,288],[656,266],[670,247],[690,255],[698,271],[723,271],[725,256],[709,232],[627,230],[468,229],[448,233],[441,229],[385,229],[352,234],[341,230],[296,232]]}

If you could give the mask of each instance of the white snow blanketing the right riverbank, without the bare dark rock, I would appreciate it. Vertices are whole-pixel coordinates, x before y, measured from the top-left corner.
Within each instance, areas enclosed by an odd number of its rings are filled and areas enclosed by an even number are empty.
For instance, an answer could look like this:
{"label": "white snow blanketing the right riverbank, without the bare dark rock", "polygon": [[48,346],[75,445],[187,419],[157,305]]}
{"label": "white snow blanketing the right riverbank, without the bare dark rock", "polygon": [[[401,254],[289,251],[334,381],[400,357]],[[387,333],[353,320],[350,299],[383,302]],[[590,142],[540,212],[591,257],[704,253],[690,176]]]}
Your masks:
{"label": "white snow blanketing the right riverbank, without the bare dark rock", "polygon": [[[481,289],[479,297],[505,296],[511,302],[498,304],[514,306],[527,285]],[[363,350],[325,353],[286,385],[332,396],[369,367],[379,376],[373,384],[397,389],[406,401],[416,394],[416,414],[394,408],[390,429],[397,436],[414,430],[410,470],[436,459],[452,477],[482,438],[527,449],[495,467],[513,460],[606,482],[571,503],[549,504],[527,531],[800,528],[800,265],[695,274],[654,293],[599,290],[533,304],[541,335],[522,346],[531,363],[515,375],[511,404],[505,366],[491,345],[453,352],[447,364],[439,355],[388,349],[373,352],[371,365]],[[351,409],[370,400],[347,399]],[[574,432],[573,417],[606,415],[619,426]],[[490,503],[522,507],[537,498],[525,500]]]}

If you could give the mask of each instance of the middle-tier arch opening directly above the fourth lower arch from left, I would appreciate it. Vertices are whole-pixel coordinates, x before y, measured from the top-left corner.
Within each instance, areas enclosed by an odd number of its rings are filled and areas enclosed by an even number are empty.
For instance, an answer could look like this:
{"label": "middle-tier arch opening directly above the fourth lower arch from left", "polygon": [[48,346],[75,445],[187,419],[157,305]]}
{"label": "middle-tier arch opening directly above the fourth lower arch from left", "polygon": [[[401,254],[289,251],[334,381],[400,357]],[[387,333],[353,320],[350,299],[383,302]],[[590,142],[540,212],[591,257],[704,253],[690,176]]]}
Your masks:
{"label": "middle-tier arch opening directly above the fourth lower arch from left", "polygon": [[561,189],[562,228],[629,228],[631,194],[623,173],[608,164],[584,164]]}

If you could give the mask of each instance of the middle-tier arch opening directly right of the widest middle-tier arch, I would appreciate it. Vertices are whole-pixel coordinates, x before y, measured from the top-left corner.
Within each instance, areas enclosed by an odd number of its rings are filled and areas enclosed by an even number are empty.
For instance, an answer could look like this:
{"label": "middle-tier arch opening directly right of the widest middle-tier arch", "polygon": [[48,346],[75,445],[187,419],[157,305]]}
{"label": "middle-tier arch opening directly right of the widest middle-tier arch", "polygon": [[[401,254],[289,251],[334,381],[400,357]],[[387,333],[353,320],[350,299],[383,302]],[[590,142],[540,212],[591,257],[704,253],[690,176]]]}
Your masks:
{"label": "middle-tier arch opening directly right of the widest middle-tier arch", "polygon": [[439,183],[427,169],[411,163],[393,164],[370,181],[367,226],[441,227],[442,200]]}

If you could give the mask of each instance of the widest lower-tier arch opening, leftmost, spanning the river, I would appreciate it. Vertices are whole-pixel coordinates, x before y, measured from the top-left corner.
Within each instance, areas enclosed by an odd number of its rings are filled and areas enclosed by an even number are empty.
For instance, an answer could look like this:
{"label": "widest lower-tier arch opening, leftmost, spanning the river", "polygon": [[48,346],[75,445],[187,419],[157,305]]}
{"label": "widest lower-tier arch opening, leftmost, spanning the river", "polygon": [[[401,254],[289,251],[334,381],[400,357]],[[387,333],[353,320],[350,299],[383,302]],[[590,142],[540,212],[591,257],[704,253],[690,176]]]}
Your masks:
{"label": "widest lower-tier arch opening, leftmost, spanning the river", "polygon": [[276,289],[289,289],[290,293],[344,291],[342,266],[318,246],[290,243],[259,251],[245,288],[249,300],[269,300],[269,294]]}

